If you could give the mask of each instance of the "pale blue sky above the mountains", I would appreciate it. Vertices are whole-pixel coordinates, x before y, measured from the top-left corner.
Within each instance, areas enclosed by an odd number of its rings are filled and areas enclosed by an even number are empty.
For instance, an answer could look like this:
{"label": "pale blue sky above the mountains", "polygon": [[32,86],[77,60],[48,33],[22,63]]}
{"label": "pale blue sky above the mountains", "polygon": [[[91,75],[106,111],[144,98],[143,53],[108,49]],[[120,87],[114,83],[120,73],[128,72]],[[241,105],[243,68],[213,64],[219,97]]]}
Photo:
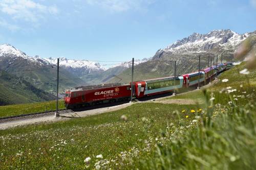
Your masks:
{"label": "pale blue sky above the mountains", "polygon": [[0,0],[0,43],[30,56],[142,59],[215,29],[256,30],[256,0]]}

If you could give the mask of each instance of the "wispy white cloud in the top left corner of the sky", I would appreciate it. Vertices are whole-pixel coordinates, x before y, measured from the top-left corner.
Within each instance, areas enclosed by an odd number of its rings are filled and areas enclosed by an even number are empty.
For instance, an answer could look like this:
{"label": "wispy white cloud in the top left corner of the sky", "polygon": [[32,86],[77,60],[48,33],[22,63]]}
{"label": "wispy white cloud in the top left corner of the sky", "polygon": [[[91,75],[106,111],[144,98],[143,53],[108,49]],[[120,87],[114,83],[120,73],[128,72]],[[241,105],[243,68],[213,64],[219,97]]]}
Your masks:
{"label": "wispy white cloud in the top left corner of the sky", "polygon": [[31,0],[2,0],[0,10],[12,16],[13,19],[23,19],[30,22],[37,22],[44,18],[45,14],[57,14],[55,6],[45,6]]}

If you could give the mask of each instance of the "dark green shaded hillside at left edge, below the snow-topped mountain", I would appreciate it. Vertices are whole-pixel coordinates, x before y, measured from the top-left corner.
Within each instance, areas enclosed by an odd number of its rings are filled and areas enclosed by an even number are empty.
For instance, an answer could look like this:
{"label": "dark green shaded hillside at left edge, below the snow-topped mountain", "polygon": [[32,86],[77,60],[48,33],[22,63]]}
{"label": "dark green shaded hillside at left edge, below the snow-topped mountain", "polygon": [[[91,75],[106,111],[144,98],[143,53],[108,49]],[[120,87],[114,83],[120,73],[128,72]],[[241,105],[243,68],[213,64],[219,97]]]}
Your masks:
{"label": "dark green shaded hillside at left edge, below the snow-topped mountain", "polygon": [[0,105],[54,100],[55,96],[0,70]]}

